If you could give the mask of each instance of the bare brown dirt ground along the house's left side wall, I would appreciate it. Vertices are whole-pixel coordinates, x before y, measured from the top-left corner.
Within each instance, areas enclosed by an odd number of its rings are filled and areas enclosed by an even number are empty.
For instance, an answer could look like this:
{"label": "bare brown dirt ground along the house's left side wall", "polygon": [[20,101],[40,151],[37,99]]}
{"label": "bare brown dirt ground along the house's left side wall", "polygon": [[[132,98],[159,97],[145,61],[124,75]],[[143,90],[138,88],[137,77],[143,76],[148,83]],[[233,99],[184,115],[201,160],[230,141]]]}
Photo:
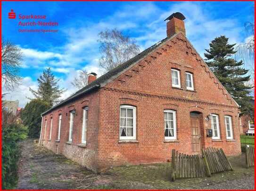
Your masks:
{"label": "bare brown dirt ground along the house's left side wall", "polygon": [[86,189],[111,182],[29,139],[22,143],[17,189]]}

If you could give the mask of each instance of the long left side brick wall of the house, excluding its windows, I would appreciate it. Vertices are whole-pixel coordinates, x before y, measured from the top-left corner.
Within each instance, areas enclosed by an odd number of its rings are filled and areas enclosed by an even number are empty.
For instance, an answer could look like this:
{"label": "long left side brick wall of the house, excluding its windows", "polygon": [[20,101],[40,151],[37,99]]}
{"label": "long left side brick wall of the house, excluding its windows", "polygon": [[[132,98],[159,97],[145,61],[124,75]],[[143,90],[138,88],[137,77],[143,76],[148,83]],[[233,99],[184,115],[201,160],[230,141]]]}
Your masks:
{"label": "long left side brick wall of the house, excluding its windows", "polygon": [[[83,107],[89,107],[87,143],[82,142]],[[70,111],[75,109],[72,143],[68,142]],[[62,115],[60,141],[58,139],[58,117]],[[51,139],[50,118],[53,119]],[[47,120],[46,137],[44,139],[45,122]],[[97,168],[98,154],[98,128],[99,128],[99,91],[92,92],[63,107],[59,107],[51,113],[43,116],[42,144],[53,152],[62,153],[67,158],[74,160],[90,169]]]}

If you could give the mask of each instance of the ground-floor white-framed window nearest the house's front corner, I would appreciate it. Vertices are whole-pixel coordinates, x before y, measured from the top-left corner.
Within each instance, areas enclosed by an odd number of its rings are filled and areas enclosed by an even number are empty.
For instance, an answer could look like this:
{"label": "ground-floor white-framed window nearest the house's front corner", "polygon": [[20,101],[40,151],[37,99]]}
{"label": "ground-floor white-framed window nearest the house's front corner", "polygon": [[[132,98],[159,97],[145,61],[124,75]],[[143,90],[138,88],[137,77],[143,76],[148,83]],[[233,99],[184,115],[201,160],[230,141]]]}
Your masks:
{"label": "ground-floor white-framed window nearest the house's front corner", "polygon": [[120,106],[120,139],[136,139],[136,107]]}

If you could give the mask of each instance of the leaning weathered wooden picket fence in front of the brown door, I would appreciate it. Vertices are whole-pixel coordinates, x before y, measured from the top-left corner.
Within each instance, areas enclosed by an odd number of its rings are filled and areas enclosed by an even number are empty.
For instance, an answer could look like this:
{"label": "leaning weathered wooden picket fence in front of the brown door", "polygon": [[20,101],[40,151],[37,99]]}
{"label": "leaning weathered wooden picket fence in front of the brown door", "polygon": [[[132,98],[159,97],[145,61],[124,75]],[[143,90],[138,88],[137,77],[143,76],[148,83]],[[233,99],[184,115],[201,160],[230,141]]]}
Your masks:
{"label": "leaning weathered wooden picket fence in front of the brown door", "polygon": [[188,155],[172,150],[172,181],[176,178],[211,176],[212,173],[233,170],[222,149],[208,147],[202,154]]}

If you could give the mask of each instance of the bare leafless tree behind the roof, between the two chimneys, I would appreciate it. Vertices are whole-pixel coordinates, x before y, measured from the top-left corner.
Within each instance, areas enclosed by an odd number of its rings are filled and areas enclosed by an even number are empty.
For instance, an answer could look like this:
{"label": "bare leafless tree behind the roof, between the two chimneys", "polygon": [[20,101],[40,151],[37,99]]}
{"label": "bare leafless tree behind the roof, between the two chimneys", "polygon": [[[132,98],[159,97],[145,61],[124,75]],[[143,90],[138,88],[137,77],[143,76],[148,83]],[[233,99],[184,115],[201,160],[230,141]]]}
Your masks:
{"label": "bare leafless tree behind the roof, between the two chimneys", "polygon": [[98,42],[101,52],[99,66],[107,71],[140,53],[140,47],[135,41],[116,29],[99,32]]}

